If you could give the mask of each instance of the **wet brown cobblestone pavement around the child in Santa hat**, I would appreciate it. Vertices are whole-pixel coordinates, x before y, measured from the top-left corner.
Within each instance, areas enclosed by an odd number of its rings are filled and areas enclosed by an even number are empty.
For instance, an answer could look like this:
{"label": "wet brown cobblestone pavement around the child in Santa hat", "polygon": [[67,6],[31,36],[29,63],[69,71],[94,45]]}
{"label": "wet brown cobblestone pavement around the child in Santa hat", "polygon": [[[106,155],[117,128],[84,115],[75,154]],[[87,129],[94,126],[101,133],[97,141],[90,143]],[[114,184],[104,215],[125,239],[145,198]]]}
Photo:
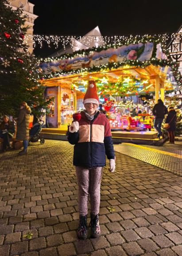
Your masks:
{"label": "wet brown cobblestone pavement around the child in Santa hat", "polygon": [[182,177],[119,152],[102,178],[102,236],[78,240],[72,154],[46,140],[0,155],[0,256],[182,256]]}

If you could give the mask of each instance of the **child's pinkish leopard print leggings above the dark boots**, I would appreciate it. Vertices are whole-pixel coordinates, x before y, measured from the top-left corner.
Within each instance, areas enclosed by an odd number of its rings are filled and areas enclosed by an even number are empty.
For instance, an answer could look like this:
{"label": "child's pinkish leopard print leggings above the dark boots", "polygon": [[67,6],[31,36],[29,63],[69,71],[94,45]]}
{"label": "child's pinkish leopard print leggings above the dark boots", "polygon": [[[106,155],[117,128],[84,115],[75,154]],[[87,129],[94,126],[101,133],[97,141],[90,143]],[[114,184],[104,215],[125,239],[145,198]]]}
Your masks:
{"label": "child's pinkish leopard print leggings above the dark boots", "polygon": [[100,187],[103,167],[76,166],[78,180],[78,209],[82,216],[88,214],[88,199],[90,195],[91,213],[99,213]]}

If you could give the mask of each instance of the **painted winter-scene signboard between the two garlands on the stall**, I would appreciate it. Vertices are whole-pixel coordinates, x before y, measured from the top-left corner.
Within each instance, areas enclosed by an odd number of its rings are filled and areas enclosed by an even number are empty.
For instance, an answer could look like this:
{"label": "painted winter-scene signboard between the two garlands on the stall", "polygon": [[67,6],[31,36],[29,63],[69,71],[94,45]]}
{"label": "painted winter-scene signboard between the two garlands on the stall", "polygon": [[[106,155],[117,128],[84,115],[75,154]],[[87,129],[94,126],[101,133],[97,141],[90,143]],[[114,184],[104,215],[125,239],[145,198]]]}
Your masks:
{"label": "painted winter-scene signboard between the two garlands on the stall", "polygon": [[85,67],[100,66],[112,62],[124,62],[126,60],[146,61],[152,57],[154,43],[137,43],[128,46],[108,48],[100,52],[91,51],[89,55],[77,55],[73,58],[65,58],[52,62],[43,62],[40,68],[43,74],[59,72],[61,70],[77,70]]}

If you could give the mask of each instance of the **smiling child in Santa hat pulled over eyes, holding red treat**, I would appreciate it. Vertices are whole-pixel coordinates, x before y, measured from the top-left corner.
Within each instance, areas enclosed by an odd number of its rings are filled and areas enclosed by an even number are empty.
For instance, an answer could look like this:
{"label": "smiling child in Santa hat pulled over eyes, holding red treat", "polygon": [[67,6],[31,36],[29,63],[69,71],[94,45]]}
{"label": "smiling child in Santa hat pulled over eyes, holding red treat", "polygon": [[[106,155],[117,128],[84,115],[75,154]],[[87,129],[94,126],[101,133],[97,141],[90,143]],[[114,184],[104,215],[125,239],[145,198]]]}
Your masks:
{"label": "smiling child in Santa hat pulled over eyes, holding red treat", "polygon": [[74,165],[78,180],[78,209],[80,221],[77,229],[79,239],[87,238],[88,199],[90,195],[91,237],[99,237],[100,186],[105,155],[109,159],[109,171],[115,170],[115,154],[111,128],[105,114],[97,108],[99,97],[95,81],[89,81],[81,119],[74,121],[68,132],[68,141],[74,146]]}

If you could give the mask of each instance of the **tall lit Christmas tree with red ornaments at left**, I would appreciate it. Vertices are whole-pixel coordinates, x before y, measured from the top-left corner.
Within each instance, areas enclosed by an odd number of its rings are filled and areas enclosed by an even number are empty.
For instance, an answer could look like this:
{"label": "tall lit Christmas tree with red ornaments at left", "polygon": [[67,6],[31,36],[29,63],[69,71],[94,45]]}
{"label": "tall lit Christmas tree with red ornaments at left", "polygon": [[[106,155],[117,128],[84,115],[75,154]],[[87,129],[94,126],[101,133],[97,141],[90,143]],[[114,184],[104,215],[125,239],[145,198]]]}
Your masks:
{"label": "tall lit Christmas tree with red ornaments at left", "polygon": [[12,10],[7,0],[0,1],[0,116],[16,116],[21,101],[36,115],[47,105],[38,82],[42,77],[38,61],[24,42],[25,19],[21,7]]}

